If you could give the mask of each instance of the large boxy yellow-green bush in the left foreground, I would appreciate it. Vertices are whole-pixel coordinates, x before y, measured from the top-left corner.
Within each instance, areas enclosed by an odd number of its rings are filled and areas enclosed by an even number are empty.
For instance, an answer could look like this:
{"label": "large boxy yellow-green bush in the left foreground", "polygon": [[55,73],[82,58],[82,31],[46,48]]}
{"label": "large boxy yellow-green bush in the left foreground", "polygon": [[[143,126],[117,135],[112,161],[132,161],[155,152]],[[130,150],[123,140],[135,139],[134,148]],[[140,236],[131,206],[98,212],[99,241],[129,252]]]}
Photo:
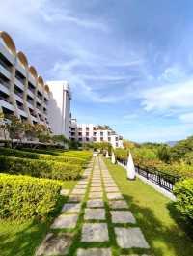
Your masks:
{"label": "large boxy yellow-green bush in the left foreground", "polygon": [[0,218],[46,218],[60,198],[61,183],[0,174]]}

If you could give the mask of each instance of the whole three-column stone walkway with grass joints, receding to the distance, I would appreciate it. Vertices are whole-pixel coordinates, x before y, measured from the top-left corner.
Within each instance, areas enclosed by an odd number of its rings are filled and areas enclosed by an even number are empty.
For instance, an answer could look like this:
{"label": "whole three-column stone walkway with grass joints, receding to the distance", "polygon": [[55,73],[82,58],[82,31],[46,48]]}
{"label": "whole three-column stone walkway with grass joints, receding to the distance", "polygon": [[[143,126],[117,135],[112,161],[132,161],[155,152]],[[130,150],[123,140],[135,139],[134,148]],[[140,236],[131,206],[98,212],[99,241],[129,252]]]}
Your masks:
{"label": "whole three-column stone walkway with grass joints, receding to the distance", "polygon": [[[63,189],[63,195],[68,193]],[[124,196],[102,158],[96,156],[69,193],[36,256],[149,256],[149,252]]]}

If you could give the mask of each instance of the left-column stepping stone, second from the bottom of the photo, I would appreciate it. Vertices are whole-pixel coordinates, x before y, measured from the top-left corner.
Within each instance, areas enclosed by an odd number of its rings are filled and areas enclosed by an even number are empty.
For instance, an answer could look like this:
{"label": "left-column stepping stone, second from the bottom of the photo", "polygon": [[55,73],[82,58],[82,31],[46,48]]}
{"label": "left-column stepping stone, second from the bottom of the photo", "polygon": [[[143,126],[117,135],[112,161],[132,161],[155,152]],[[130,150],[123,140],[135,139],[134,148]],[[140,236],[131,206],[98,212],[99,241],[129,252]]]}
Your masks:
{"label": "left-column stepping stone, second from the bottom of the photo", "polygon": [[78,220],[77,213],[70,214],[70,215],[61,214],[54,220],[54,223],[51,225],[51,228],[52,229],[75,228],[77,220]]}

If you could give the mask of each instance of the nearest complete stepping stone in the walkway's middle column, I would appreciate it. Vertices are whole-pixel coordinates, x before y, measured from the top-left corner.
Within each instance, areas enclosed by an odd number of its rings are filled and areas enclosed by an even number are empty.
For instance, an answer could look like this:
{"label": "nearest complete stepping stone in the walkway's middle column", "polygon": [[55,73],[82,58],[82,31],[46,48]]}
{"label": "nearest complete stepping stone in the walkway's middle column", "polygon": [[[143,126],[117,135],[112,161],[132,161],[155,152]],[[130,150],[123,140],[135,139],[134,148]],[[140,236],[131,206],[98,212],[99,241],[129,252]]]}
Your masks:
{"label": "nearest complete stepping stone in the walkway's middle column", "polygon": [[105,223],[85,223],[82,228],[81,242],[109,241],[108,228]]}

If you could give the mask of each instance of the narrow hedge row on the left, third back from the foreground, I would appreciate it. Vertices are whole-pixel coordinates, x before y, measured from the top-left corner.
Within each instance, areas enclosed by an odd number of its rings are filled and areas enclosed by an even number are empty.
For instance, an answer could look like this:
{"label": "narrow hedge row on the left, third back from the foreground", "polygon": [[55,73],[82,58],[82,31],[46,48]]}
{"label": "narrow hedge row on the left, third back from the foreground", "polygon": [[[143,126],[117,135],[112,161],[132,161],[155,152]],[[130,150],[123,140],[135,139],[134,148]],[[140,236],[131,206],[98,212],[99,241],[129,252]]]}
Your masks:
{"label": "narrow hedge row on the left, third back from the foreground", "polygon": [[21,150],[14,150],[10,148],[0,148],[0,154],[5,156],[15,156],[15,157],[24,157],[24,158],[31,158],[31,159],[40,159],[40,160],[55,160],[69,164],[77,164],[84,166],[86,164],[86,160],[78,157],[69,157],[69,156],[52,156],[52,155],[45,155],[45,154],[37,154],[37,153],[30,153]]}

